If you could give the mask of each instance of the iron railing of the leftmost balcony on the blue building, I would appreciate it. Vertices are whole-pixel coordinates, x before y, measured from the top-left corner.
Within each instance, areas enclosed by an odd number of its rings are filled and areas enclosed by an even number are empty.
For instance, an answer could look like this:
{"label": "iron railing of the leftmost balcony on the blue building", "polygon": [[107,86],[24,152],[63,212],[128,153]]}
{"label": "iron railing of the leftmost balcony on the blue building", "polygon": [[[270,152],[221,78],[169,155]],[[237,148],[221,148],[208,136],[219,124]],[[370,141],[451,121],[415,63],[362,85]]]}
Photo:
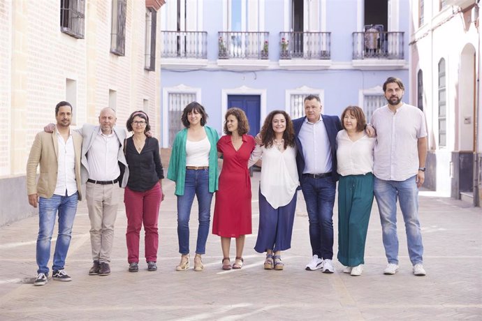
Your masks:
{"label": "iron railing of the leftmost balcony on the blue building", "polygon": [[207,32],[161,31],[162,58],[207,59]]}

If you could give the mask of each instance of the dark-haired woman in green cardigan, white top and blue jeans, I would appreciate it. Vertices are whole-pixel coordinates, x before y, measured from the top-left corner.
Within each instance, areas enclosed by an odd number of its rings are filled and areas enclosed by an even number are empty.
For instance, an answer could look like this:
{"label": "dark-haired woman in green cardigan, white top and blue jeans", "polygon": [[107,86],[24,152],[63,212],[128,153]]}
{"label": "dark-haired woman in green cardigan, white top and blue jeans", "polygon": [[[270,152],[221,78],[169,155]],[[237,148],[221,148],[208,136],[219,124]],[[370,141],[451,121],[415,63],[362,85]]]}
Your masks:
{"label": "dark-haired woman in green cardigan, white top and blue jeans", "polygon": [[189,269],[189,216],[194,195],[199,208],[194,271],[203,271],[201,255],[206,251],[211,200],[218,186],[216,143],[219,135],[214,128],[205,126],[207,113],[195,101],[184,108],[181,121],[185,128],[174,139],[168,169],[168,179],[175,181],[174,193],[177,195],[177,238],[181,261],[176,271]]}

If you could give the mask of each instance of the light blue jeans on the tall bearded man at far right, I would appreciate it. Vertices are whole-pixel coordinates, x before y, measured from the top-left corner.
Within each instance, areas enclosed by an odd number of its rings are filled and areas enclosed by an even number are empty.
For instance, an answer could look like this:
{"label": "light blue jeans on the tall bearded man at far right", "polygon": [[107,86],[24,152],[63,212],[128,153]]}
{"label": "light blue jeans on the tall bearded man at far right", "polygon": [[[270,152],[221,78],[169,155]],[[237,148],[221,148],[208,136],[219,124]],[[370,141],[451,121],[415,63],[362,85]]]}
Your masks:
{"label": "light blue jeans on the tall bearded man at far right", "polygon": [[374,193],[380,212],[381,230],[388,263],[398,264],[398,198],[405,222],[411,264],[422,264],[423,244],[418,222],[418,188],[415,177],[405,181],[384,181],[375,177]]}

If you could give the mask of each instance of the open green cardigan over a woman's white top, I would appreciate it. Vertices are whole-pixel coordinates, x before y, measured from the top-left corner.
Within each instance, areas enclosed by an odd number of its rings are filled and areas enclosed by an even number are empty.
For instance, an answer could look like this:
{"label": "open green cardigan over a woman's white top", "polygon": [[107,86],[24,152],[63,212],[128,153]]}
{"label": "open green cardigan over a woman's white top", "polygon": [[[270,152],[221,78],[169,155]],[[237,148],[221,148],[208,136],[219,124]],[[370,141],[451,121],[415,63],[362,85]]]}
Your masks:
{"label": "open green cardigan over a woman's white top", "polygon": [[[204,129],[211,144],[209,151],[209,191],[214,193],[217,191],[219,184],[219,169],[217,166],[217,141],[219,140],[219,135],[216,130],[209,126],[204,126]],[[184,128],[177,133],[174,139],[168,168],[168,179],[176,182],[174,193],[179,196],[184,195],[184,181],[186,180],[186,140],[187,128]]]}

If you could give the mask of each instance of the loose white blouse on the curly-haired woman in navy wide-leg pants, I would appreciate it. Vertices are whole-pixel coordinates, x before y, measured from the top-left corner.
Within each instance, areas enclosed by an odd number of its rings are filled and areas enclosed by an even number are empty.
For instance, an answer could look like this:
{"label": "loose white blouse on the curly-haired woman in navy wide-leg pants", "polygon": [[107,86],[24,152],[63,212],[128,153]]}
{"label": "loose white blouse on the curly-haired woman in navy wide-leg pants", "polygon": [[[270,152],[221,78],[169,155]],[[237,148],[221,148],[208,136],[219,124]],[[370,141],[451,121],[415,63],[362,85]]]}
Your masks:
{"label": "loose white blouse on the curly-haired woman in navy wide-leg pants", "polygon": [[275,146],[267,149],[256,145],[248,166],[256,163],[261,155],[261,194],[266,197],[273,209],[289,204],[299,185],[296,148],[288,147],[282,152]]}

